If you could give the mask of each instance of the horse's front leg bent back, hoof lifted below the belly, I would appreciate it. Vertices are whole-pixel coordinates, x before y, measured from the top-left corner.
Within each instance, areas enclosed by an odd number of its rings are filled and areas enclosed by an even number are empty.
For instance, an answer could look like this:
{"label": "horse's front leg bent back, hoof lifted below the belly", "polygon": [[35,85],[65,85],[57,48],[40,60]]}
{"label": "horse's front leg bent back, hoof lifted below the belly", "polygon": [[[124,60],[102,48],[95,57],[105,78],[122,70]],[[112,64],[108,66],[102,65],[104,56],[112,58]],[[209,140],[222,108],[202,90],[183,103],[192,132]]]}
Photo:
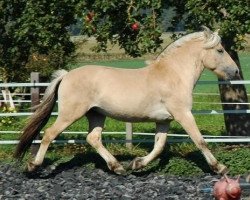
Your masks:
{"label": "horse's front leg bent back, hoof lifted below the belly", "polygon": [[132,170],[141,169],[146,166],[149,162],[158,157],[163,151],[166,140],[167,132],[169,130],[169,123],[166,124],[156,124],[156,134],[155,134],[155,144],[153,150],[144,157],[135,158],[129,165]]}

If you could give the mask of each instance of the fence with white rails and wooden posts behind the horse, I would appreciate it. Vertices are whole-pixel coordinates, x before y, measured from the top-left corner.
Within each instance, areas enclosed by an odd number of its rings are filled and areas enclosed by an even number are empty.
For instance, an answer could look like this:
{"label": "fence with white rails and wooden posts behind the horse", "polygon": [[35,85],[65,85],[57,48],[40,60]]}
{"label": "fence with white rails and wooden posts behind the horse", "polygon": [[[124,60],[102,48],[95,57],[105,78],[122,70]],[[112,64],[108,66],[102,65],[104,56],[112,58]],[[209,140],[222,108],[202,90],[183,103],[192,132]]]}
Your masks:
{"label": "fence with white rails and wooden posts behind the horse", "polygon": [[[198,81],[198,84],[250,84],[250,80],[246,81]],[[12,101],[13,103],[30,103],[31,106],[37,105],[40,102],[40,97],[42,94],[40,93],[41,87],[47,87],[49,83],[40,83],[39,82],[39,73],[31,73],[31,82],[30,83],[0,83],[0,88],[20,88],[20,87],[30,87],[30,93],[26,93],[22,95],[29,95],[30,100],[12,100],[11,96],[5,97],[4,99],[0,100],[1,102],[6,101]],[[9,94],[10,95],[10,94]],[[17,94],[16,94],[17,95]],[[8,102],[7,102],[8,103]],[[221,103],[225,104],[225,103]],[[244,104],[250,104],[250,103],[244,103]],[[199,115],[217,115],[217,114],[224,114],[224,113],[233,113],[233,114],[239,114],[239,113],[247,113],[250,114],[250,110],[194,110],[192,111],[194,114]],[[33,111],[31,112],[18,112],[18,113],[0,113],[0,117],[20,117],[20,116],[30,116],[32,115]],[[52,112],[52,115],[57,115],[57,112]],[[0,133],[6,133],[6,134],[14,134],[18,133],[19,131],[0,131]],[[64,132],[67,134],[87,134],[87,132]],[[104,134],[125,134],[125,140],[117,140],[115,142],[126,142],[127,147],[132,147],[132,142],[153,142],[153,140],[133,140],[133,135],[154,135],[154,133],[135,133],[133,132],[132,124],[126,123],[126,130],[124,132],[104,132]],[[169,136],[174,137],[168,142],[188,142],[190,141],[188,135],[180,135],[180,134],[168,134]],[[204,136],[205,140],[207,142],[244,142],[244,143],[250,143],[250,137],[239,137],[239,136]],[[35,140],[34,143],[40,143],[40,140]],[[109,141],[106,141],[109,142]],[[113,140],[111,142],[114,142]],[[18,140],[0,140],[0,144],[17,144]],[[55,140],[54,143],[85,143],[85,141],[82,140]]]}

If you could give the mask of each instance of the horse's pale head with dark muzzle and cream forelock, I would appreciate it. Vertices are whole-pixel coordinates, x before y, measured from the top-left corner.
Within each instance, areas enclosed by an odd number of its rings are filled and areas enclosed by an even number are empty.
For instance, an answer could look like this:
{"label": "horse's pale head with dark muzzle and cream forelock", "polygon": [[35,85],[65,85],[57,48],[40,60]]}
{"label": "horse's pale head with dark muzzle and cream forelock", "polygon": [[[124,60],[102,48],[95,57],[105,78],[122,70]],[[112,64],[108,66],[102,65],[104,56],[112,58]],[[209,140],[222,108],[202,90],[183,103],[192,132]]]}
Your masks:
{"label": "horse's pale head with dark muzzle and cream forelock", "polygon": [[239,78],[239,69],[221,45],[218,31],[212,32],[206,27],[204,29],[205,42],[202,60],[204,67],[225,80]]}

